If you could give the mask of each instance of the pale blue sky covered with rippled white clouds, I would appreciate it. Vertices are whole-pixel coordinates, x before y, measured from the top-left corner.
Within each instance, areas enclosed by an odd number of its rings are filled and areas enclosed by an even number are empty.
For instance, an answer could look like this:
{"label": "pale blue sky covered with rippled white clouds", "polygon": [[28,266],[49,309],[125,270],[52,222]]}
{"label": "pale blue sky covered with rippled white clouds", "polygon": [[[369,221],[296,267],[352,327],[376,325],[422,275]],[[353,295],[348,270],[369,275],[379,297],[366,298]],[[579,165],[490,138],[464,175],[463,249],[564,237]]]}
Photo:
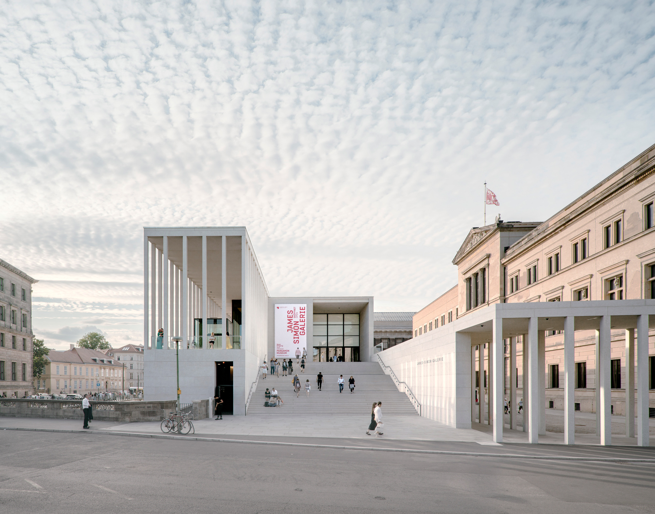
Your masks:
{"label": "pale blue sky covered with rippled white clouds", "polygon": [[419,309],[485,180],[487,220],[543,220],[655,142],[654,27],[653,1],[3,1],[0,257],[57,348],[142,339],[143,226],[245,225],[271,294]]}

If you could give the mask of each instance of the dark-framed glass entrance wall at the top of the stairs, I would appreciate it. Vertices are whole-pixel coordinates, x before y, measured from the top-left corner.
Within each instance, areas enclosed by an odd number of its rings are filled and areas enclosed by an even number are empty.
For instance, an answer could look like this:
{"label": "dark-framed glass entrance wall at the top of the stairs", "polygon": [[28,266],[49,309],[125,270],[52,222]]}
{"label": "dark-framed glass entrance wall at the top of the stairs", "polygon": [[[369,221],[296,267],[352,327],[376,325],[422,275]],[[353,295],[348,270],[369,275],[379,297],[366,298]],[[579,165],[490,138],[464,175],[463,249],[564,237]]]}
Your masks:
{"label": "dark-framed glass entrance wall at the top of the stairs", "polygon": [[314,314],[314,362],[360,360],[359,314]]}

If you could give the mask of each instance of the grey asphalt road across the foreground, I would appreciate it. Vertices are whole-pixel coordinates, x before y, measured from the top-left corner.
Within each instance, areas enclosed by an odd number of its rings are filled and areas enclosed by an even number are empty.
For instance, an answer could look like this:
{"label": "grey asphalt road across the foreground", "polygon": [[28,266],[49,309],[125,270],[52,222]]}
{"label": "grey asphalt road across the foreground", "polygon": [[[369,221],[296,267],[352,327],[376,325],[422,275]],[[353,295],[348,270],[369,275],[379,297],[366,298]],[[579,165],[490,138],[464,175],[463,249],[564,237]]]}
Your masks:
{"label": "grey asphalt road across the foreground", "polygon": [[[540,446],[453,446],[467,448]],[[604,455],[597,447],[543,449]],[[607,456],[655,458],[651,448],[639,451],[608,448]],[[655,464],[0,432],[3,514],[655,512],[654,479]]]}

